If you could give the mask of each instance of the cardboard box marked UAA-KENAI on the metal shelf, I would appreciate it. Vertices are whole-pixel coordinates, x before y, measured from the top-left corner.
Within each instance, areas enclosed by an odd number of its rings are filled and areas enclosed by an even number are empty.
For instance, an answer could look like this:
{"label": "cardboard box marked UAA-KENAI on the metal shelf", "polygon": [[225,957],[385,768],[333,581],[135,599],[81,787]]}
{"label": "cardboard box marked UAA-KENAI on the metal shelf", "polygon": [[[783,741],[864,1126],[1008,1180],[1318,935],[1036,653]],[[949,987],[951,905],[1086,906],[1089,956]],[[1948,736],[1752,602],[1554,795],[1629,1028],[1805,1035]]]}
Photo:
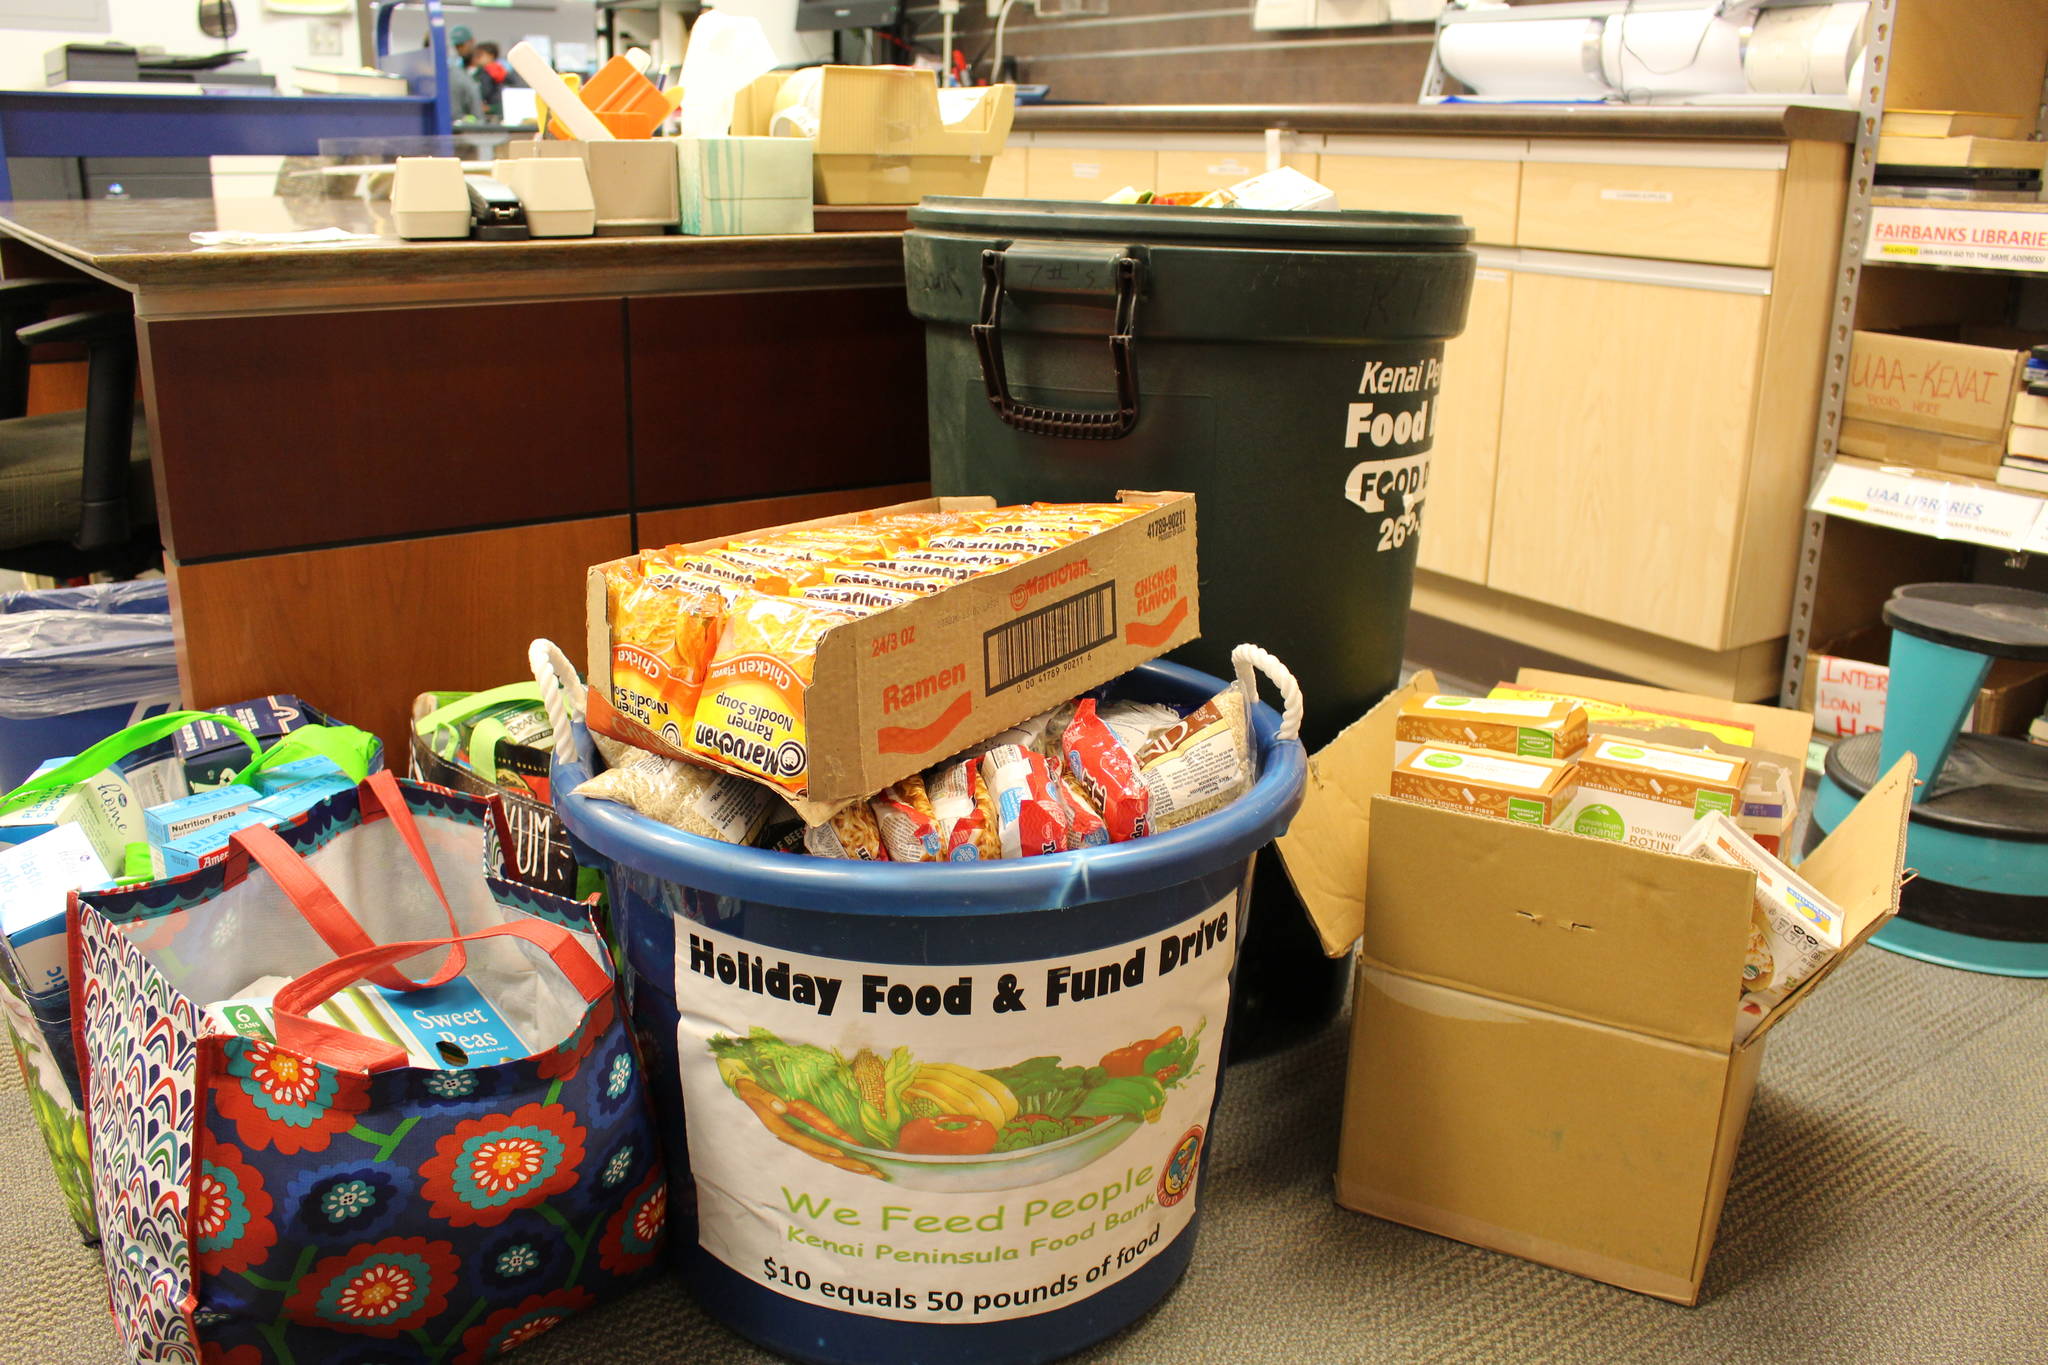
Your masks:
{"label": "cardboard box marked UAA-KENAI on the metal shelf", "polygon": [[2021,352],[1888,332],[1849,350],[1843,454],[1993,479],[2019,391]]}

